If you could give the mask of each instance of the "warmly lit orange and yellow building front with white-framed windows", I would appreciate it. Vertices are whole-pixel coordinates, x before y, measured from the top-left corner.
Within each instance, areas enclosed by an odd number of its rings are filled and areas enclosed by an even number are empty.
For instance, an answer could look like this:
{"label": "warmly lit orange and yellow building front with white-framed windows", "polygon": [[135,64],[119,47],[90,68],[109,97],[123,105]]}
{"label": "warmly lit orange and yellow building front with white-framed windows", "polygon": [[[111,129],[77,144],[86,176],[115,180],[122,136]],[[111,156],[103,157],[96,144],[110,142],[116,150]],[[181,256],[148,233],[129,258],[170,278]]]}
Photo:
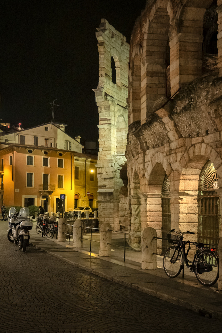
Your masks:
{"label": "warmly lit orange and yellow building front with white-framed windows", "polygon": [[[34,204],[49,212],[73,210],[78,205],[98,207],[97,156],[9,144],[0,150],[0,159],[1,204]],[[66,196],[64,201],[61,194]]]}

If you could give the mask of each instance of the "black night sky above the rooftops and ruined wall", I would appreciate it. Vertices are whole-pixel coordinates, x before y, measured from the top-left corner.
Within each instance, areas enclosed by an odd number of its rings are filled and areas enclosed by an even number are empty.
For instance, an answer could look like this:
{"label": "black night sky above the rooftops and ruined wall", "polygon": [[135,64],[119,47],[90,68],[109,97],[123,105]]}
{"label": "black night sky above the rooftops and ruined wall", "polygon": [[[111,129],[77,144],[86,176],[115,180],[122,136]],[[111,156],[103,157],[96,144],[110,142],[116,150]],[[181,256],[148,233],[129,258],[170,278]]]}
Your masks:
{"label": "black night sky above the rooftops and ruined wall", "polygon": [[130,41],[145,0],[1,0],[0,118],[29,128],[51,121],[98,139],[96,28],[106,18]]}

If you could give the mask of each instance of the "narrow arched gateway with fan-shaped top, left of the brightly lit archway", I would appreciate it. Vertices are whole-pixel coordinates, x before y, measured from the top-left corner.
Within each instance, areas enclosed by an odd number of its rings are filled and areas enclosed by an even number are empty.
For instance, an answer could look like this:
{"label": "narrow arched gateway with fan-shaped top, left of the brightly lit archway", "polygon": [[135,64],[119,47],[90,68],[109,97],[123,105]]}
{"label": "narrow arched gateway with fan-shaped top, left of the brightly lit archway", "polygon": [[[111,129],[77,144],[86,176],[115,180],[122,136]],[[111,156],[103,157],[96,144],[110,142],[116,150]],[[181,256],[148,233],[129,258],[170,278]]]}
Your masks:
{"label": "narrow arched gateway with fan-shaped top, left of the brightly lit archway", "polygon": [[169,247],[167,241],[167,233],[171,229],[171,212],[170,212],[170,182],[167,175],[164,178],[161,196],[161,210],[162,210],[162,254],[164,254]]}

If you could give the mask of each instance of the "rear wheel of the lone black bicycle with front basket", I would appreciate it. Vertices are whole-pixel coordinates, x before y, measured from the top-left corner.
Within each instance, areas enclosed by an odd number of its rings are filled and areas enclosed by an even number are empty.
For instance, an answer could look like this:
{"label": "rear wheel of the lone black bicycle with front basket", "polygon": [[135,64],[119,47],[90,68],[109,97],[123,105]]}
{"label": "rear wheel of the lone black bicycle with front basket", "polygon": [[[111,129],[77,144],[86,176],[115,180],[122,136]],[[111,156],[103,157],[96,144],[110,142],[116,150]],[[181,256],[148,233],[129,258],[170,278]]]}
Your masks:
{"label": "rear wheel of the lone black bicycle with front basket", "polygon": [[194,272],[197,280],[204,286],[210,287],[217,282],[219,276],[218,258],[211,251],[204,250],[194,262]]}

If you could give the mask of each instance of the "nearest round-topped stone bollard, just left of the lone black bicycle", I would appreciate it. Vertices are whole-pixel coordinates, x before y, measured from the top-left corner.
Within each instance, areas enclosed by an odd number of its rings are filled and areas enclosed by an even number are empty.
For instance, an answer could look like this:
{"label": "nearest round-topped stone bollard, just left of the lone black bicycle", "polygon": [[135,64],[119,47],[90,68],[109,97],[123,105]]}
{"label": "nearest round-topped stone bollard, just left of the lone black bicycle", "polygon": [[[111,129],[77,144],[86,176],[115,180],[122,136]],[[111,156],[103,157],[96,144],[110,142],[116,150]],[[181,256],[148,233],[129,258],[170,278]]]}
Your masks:
{"label": "nearest round-topped stone bollard, just left of the lone black bicycle", "polygon": [[142,232],[142,269],[156,269],[156,230],[153,228],[145,228]]}

